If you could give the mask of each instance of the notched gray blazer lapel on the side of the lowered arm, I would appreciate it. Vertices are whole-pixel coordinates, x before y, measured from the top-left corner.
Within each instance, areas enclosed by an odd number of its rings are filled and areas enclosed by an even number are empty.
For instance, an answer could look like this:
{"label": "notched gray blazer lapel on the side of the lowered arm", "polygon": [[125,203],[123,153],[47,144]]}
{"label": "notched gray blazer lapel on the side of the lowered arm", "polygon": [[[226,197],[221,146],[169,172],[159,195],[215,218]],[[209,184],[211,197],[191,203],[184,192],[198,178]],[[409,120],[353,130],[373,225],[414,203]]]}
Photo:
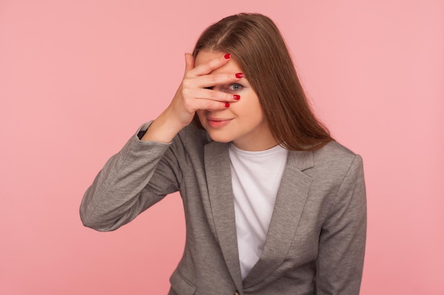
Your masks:
{"label": "notched gray blazer lapel on the side of the lowered arm", "polygon": [[294,239],[312,181],[302,170],[311,167],[313,154],[310,151],[289,151],[264,250],[260,260],[245,277],[245,288],[261,282],[284,261]]}

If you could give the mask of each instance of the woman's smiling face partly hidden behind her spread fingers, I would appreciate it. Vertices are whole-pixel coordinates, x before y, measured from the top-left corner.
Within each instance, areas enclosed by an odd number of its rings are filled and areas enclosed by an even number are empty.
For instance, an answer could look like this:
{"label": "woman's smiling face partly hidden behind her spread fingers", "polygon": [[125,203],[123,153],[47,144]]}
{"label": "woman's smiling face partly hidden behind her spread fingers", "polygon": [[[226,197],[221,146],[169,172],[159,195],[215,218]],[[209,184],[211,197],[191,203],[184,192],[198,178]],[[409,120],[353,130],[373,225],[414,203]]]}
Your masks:
{"label": "woman's smiling face partly hidden behind her spread fingers", "polygon": [[[201,51],[196,56],[195,65],[220,57],[224,52]],[[241,73],[242,69],[231,59],[228,64],[214,70],[215,73]],[[231,103],[224,110],[198,110],[201,125],[211,139],[220,142],[233,141],[239,149],[262,151],[277,145],[265,120],[259,98],[248,82],[248,77],[228,85],[215,85],[213,90],[238,94],[240,100]]]}

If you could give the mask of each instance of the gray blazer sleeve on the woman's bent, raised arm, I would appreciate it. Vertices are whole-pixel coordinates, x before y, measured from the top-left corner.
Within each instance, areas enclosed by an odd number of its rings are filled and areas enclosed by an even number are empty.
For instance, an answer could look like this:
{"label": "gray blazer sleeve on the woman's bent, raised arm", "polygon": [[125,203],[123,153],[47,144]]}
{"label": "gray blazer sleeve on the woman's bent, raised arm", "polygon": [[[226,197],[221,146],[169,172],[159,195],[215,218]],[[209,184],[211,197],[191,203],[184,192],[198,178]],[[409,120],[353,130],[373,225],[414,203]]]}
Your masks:
{"label": "gray blazer sleeve on the woman's bent, raised arm", "polygon": [[140,141],[136,134],[106,162],[85,192],[80,204],[84,226],[113,231],[178,190],[177,142]]}

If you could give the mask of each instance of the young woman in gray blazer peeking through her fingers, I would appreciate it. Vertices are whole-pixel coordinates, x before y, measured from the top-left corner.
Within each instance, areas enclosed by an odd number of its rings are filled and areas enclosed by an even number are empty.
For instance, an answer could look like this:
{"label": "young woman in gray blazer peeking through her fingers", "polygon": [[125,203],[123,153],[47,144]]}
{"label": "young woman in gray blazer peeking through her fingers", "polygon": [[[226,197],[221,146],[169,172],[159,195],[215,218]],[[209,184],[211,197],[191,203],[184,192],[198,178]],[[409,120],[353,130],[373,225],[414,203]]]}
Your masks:
{"label": "young woman in gray blazer peeking through her fingers", "polygon": [[362,159],[316,120],[274,23],[223,18],[185,61],[171,104],[85,193],[84,225],[118,229],[179,191],[187,238],[170,295],[358,294]]}

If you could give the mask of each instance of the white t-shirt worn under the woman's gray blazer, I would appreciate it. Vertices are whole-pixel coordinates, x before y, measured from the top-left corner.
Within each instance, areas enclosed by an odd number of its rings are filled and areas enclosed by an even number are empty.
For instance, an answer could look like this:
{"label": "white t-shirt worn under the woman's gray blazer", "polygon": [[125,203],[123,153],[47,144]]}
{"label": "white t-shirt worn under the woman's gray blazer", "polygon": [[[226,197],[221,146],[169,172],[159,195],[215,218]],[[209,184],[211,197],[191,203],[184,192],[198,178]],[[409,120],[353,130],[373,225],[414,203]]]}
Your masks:
{"label": "white t-shirt worn under the woman's gray blazer", "polygon": [[262,255],[287,154],[282,146],[243,151],[231,144],[231,182],[242,279]]}

